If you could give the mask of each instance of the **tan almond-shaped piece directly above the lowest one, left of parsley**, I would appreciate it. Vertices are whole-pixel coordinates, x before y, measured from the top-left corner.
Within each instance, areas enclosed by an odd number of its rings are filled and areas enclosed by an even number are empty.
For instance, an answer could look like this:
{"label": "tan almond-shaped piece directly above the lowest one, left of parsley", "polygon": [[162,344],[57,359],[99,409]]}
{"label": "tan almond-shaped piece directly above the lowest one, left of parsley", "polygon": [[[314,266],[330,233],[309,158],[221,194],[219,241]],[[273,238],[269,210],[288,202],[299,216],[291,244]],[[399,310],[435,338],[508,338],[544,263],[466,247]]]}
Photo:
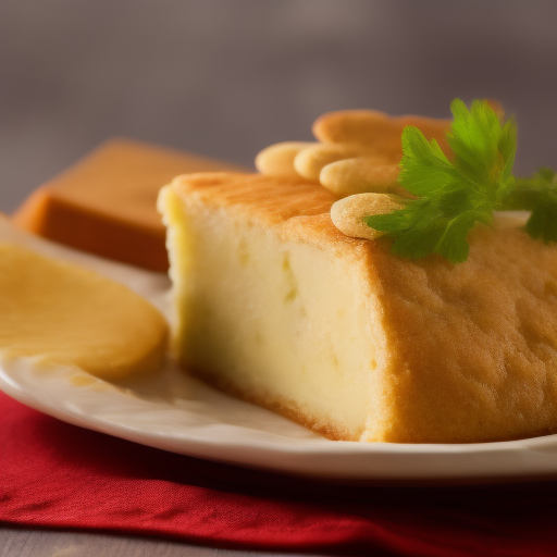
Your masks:
{"label": "tan almond-shaped piece directly above the lowest one, left of parsley", "polygon": [[398,164],[381,157],[359,157],[327,164],[319,180],[337,197],[363,193],[404,195],[398,185]]}

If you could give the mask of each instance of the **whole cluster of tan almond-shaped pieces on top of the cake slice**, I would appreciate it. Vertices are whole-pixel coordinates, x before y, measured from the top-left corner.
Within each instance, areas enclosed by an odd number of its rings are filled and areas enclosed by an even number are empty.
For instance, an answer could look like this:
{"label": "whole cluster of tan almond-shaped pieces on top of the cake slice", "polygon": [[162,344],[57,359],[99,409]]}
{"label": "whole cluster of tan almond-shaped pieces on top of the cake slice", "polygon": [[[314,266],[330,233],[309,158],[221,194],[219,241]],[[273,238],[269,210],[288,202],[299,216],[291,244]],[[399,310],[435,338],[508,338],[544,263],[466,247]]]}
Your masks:
{"label": "whole cluster of tan almond-shaped pieces on top of the cake slice", "polygon": [[318,141],[272,145],[257,156],[256,168],[262,174],[319,182],[339,198],[331,209],[335,226],[347,236],[373,239],[381,233],[364,224],[362,218],[394,211],[408,197],[398,185],[400,137],[406,126],[419,127],[449,154],[448,120],[345,110],[330,112],[314,122],[312,132]]}

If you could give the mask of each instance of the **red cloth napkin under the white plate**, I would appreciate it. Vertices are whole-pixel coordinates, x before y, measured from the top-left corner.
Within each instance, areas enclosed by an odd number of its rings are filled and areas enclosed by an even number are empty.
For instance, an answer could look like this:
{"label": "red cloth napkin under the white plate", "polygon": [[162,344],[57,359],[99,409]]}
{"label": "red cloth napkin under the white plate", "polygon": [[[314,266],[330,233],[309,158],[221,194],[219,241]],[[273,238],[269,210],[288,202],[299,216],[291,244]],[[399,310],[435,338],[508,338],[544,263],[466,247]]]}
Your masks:
{"label": "red cloth napkin under the white plate", "polygon": [[555,556],[557,482],[357,487],[256,472],[66,424],[0,393],[0,520],[233,548]]}

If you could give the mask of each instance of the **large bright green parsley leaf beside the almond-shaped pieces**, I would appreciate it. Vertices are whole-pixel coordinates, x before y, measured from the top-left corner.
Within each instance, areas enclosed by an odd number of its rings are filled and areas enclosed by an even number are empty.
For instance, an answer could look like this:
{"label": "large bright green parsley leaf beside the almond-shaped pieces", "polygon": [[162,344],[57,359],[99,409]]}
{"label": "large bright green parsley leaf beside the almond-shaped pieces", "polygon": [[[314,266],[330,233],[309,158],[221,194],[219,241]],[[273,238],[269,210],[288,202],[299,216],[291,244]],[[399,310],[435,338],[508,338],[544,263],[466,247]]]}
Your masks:
{"label": "large bright green parsley leaf beside the almond-shaped pieces", "polygon": [[428,141],[418,128],[406,127],[398,181],[413,199],[398,211],[363,219],[395,239],[392,251],[399,256],[440,253],[451,263],[466,261],[470,230],[476,222],[490,224],[493,211],[503,209],[513,190],[515,120],[502,124],[491,106],[480,100],[468,110],[456,99],[450,111],[451,160],[435,139]]}

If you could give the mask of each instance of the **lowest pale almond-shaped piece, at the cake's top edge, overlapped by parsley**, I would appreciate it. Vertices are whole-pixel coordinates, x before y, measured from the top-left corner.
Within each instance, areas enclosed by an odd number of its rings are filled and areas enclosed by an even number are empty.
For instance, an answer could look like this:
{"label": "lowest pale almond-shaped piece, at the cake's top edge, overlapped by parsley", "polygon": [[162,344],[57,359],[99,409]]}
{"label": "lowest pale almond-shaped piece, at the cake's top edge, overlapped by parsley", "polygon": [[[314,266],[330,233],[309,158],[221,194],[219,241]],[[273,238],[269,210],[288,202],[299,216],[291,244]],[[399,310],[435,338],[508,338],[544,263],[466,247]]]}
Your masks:
{"label": "lowest pale almond-shaped piece, at the cake's top edge, overlapped by parsley", "polygon": [[384,233],[368,226],[363,218],[392,213],[404,207],[404,199],[388,194],[358,194],[345,197],[331,207],[333,224],[346,236],[375,239]]}

